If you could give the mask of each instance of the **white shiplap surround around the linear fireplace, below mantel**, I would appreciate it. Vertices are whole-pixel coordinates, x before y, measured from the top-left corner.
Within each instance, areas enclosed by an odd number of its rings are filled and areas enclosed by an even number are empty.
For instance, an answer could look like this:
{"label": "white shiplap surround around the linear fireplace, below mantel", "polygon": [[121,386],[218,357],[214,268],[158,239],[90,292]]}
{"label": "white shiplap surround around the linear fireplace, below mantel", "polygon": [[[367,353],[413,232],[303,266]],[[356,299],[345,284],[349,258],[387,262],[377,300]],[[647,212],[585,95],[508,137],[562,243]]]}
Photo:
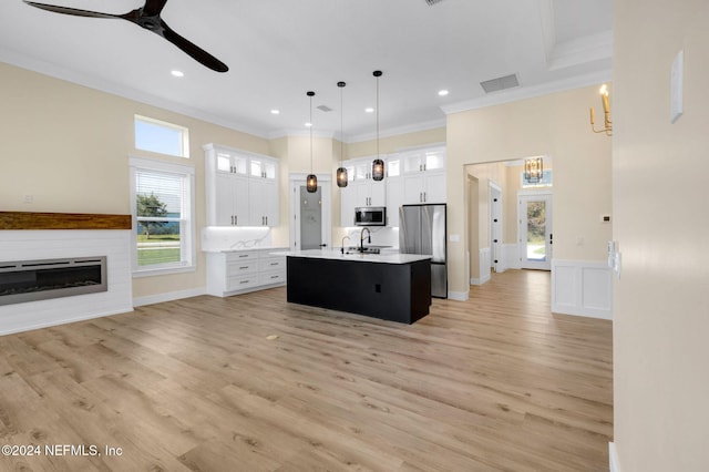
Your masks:
{"label": "white shiplap surround around the linear fireplace, below mantel", "polygon": [[132,311],[131,232],[0,230],[0,260],[106,256],[109,290],[0,306],[0,335]]}

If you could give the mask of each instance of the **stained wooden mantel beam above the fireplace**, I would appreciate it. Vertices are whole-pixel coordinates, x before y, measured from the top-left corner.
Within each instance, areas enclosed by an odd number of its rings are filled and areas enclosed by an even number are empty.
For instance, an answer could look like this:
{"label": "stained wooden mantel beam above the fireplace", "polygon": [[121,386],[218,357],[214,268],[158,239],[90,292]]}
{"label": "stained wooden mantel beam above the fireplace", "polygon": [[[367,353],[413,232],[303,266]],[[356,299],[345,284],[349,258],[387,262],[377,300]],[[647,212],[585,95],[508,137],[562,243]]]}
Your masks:
{"label": "stained wooden mantel beam above the fireplace", "polygon": [[0,212],[3,229],[131,229],[131,215]]}

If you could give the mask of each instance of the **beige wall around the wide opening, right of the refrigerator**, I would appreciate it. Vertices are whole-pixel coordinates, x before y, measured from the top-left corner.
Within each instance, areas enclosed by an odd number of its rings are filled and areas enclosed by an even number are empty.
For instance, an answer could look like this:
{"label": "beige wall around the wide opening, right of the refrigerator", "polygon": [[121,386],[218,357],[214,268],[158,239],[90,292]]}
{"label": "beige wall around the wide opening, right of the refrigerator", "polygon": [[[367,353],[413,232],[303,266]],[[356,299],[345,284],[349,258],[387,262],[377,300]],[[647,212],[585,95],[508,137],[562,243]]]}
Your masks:
{"label": "beige wall around the wide opening, right of the refrigerator", "polygon": [[[554,257],[605,260],[610,225],[610,138],[593,134],[588,106],[598,88],[555,93],[448,116],[449,287],[467,291],[465,279],[466,164],[549,155],[554,160]],[[576,242],[580,237],[582,245]]]}

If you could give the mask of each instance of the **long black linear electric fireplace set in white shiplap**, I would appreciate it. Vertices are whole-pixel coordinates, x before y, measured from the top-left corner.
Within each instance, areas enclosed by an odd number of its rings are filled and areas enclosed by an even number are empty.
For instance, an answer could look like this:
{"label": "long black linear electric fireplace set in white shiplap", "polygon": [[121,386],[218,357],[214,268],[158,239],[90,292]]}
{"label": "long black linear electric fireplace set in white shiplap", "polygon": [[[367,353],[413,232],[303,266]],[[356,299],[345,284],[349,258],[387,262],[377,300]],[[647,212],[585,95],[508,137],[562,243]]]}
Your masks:
{"label": "long black linear electric fireplace set in white shiplap", "polygon": [[0,305],[107,291],[106,257],[0,261]]}

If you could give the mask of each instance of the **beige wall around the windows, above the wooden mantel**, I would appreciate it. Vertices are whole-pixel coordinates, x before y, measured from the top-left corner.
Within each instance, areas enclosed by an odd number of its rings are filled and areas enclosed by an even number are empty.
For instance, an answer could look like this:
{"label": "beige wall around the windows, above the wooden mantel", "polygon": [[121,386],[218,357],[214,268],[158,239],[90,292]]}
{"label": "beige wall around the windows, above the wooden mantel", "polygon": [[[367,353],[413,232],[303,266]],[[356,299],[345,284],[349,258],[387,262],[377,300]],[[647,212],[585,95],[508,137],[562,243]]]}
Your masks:
{"label": "beige wall around the windows, above the wooden mantel", "polygon": [[[129,156],[194,165],[197,270],[142,277],[133,296],[205,286],[199,228],[205,225],[203,144],[261,154],[267,140],[0,63],[0,209],[130,214]],[[134,114],[189,129],[189,160],[134,148]],[[33,203],[23,203],[33,195]],[[287,222],[287,219],[285,219]]]}

